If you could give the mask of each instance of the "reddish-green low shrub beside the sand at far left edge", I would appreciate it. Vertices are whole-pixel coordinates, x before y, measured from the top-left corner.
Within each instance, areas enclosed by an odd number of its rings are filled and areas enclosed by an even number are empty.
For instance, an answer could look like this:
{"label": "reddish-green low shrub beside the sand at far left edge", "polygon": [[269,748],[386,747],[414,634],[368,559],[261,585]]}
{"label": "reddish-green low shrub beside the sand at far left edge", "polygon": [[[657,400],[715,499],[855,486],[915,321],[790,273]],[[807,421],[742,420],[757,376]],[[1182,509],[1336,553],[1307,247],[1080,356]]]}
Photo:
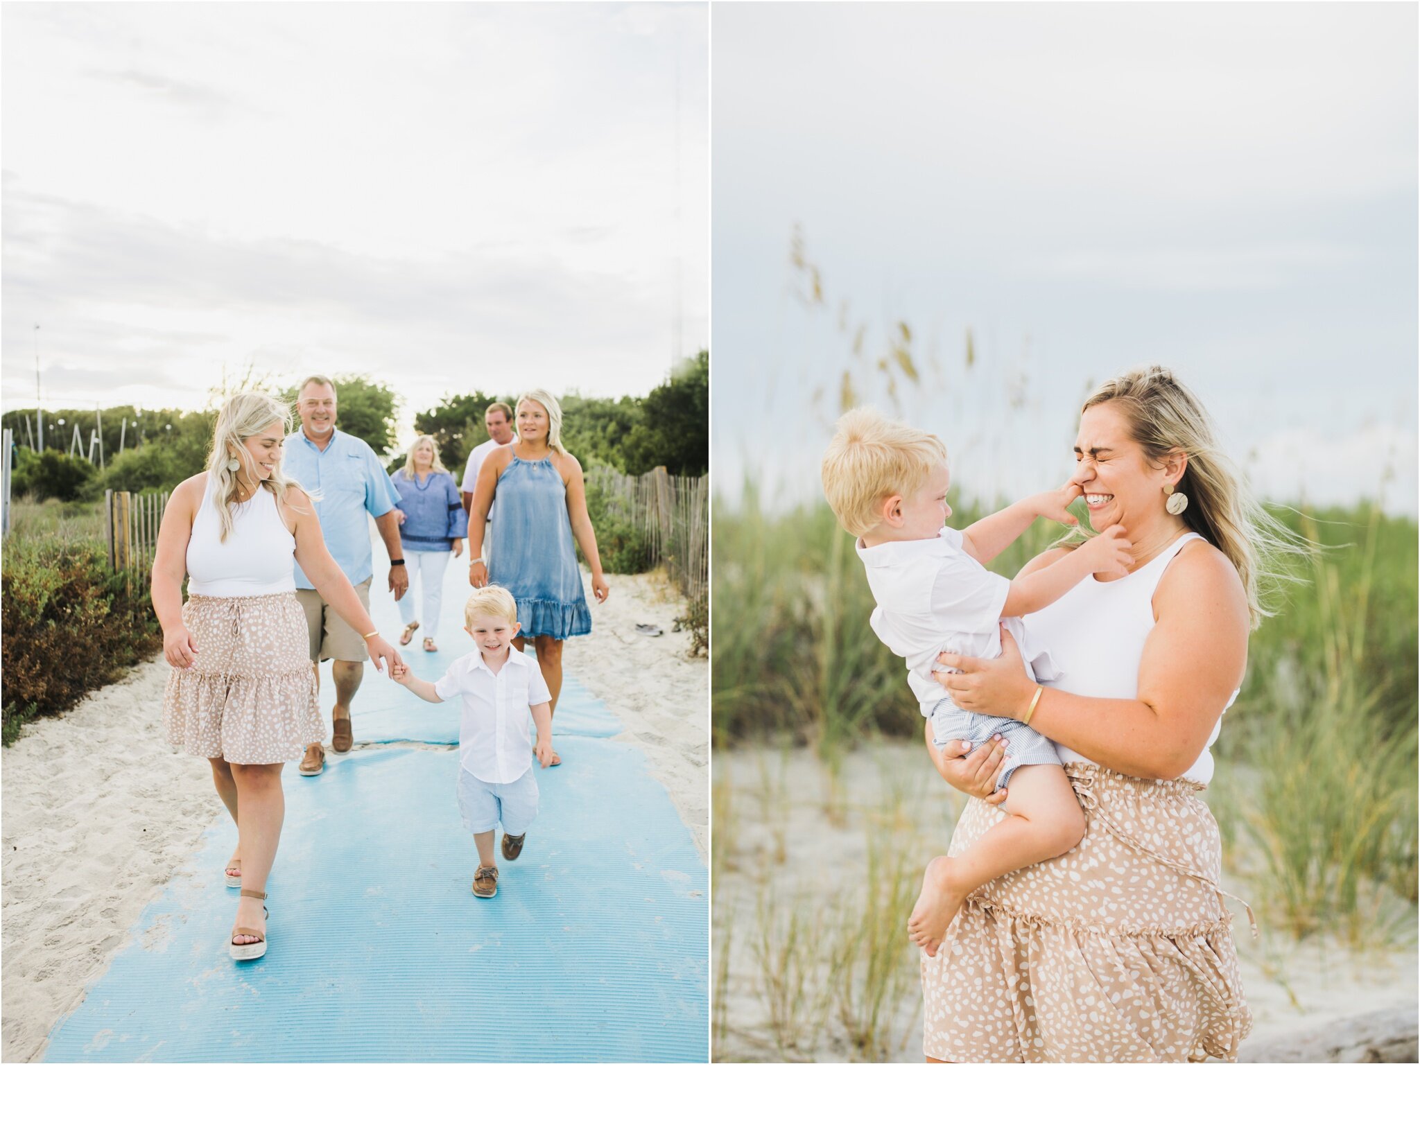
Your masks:
{"label": "reddish-green low shrub beside the sand at far left edge", "polygon": [[111,575],[102,545],[7,541],[0,579],[4,742],[61,712],[162,646],[148,588]]}

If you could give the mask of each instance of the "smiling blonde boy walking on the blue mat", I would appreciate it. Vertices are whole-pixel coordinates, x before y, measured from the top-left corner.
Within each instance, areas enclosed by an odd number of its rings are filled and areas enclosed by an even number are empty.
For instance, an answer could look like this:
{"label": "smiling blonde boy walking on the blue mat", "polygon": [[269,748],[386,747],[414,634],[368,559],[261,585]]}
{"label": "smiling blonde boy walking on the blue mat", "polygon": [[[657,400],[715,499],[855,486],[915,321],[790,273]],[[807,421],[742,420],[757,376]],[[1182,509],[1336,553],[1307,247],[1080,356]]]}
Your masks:
{"label": "smiling blonde boy walking on the blue mat", "polygon": [[528,708],[537,724],[537,759],[547,768],[552,762],[552,694],[537,661],[510,644],[521,629],[513,595],[501,586],[480,588],[463,607],[463,619],[477,650],[432,684],[405,664],[395,666],[393,677],[426,701],[460,700],[459,810],[479,849],[473,893],[491,898],[498,893],[494,827],[503,825],[503,857],[513,861],[537,818]]}

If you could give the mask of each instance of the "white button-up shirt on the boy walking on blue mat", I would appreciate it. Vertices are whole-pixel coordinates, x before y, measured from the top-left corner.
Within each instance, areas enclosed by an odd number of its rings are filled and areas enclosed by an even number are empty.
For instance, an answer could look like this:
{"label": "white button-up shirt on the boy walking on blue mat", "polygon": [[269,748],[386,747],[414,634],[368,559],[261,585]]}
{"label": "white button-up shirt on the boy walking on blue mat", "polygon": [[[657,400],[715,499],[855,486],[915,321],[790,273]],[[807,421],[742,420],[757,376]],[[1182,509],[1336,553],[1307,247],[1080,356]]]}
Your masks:
{"label": "white button-up shirt on the boy walking on blue mat", "polygon": [[474,647],[435,681],[440,701],[459,698],[459,765],[484,783],[511,783],[532,766],[528,708],[552,700],[535,660],[508,647],[494,673]]}

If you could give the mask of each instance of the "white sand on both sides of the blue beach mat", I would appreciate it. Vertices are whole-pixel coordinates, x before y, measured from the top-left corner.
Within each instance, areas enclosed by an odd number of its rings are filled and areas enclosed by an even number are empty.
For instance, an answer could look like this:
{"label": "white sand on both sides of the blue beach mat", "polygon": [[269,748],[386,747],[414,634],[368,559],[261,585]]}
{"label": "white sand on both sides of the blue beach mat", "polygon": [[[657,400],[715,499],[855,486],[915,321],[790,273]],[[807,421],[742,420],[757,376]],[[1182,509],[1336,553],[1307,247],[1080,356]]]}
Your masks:
{"label": "white sand on both sides of the blue beach mat", "polygon": [[[612,595],[594,609],[592,634],[568,643],[564,666],[626,724],[618,739],[646,754],[704,859],[709,666],[684,657],[689,632],[672,633],[677,607],[655,578],[608,582]],[[446,610],[450,603],[452,593]],[[666,633],[643,637],[638,622]],[[219,819],[206,762],[175,755],[163,738],[166,681],[166,661],[145,663],[72,711],[31,722],[0,758],[4,1062],[43,1050]]]}

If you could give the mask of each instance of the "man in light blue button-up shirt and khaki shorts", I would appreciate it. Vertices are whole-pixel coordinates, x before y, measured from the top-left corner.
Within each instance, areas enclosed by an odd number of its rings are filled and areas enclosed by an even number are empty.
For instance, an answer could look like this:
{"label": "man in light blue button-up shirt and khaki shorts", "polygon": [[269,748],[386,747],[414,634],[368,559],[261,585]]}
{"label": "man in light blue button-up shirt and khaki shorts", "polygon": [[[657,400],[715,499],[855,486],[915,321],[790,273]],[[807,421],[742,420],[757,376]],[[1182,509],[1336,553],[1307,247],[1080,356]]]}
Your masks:
{"label": "man in light blue button-up shirt and khaki shorts", "polygon": [[[331,558],[345,572],[355,593],[369,610],[369,585],[375,575],[369,548],[369,521],[375,517],[381,539],[389,552],[389,589],[400,599],[409,588],[403,549],[399,544],[399,518],[395,505],[399,490],[385,473],[365,441],[335,429],[335,385],[328,378],[308,378],[297,395],[300,433],[285,440],[283,470],[302,488],[320,492],[315,514]],[[365,676],[365,640],[327,605],[305,572],[295,568],[295,598],[305,610],[311,664],[315,680],[321,680],[321,663],[331,660],[335,681],[335,737],[331,747],[348,752],[355,742],[351,727],[351,701]],[[302,776],[318,776],[325,771],[325,747],[308,745],[298,769]]]}

